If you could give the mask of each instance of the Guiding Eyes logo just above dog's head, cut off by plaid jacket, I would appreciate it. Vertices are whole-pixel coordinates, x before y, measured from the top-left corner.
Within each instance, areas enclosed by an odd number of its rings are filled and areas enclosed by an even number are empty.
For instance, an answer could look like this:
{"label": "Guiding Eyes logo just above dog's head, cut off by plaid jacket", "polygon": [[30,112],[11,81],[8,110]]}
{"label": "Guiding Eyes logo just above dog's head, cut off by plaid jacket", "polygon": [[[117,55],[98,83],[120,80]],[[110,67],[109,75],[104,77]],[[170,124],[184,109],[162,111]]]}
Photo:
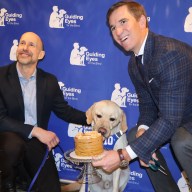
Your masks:
{"label": "Guiding Eyes logo just above dog's head, cut off by plaid jacket", "polygon": [[120,83],[115,83],[111,94],[111,101],[114,101],[119,107],[139,106],[139,100],[136,93],[131,93],[127,87],[122,87]]}

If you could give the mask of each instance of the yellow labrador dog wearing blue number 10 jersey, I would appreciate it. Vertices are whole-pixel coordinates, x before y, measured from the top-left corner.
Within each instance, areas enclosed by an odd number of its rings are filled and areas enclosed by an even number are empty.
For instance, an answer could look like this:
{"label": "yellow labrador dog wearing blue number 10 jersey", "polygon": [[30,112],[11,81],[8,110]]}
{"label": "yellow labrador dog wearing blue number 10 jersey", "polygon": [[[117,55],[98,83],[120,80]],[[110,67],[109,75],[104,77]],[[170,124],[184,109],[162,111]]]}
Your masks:
{"label": "yellow labrador dog wearing blue number 10 jersey", "polygon": [[[92,125],[93,130],[100,132],[104,139],[106,149],[120,149],[127,146],[126,139],[126,116],[123,110],[113,101],[102,100],[94,103],[86,112],[87,123]],[[106,144],[108,144],[106,146]],[[106,173],[97,169],[102,180],[96,184],[89,184],[90,192],[122,192],[129,180],[130,170],[118,168],[112,173]],[[72,183],[63,188],[64,191],[85,191],[85,184]]]}

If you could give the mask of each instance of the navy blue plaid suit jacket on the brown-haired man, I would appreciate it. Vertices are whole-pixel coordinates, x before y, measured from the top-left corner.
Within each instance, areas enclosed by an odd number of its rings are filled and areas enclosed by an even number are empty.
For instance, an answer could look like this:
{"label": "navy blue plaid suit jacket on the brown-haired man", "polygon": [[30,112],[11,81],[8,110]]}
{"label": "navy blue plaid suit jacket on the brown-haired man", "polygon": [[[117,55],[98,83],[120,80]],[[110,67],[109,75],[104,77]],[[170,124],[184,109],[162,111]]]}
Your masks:
{"label": "navy blue plaid suit jacket on the brown-haired man", "polygon": [[149,31],[144,48],[145,79],[141,78],[134,55],[129,75],[139,99],[138,126],[150,128],[130,143],[140,159],[166,143],[179,127],[192,133],[192,47]]}

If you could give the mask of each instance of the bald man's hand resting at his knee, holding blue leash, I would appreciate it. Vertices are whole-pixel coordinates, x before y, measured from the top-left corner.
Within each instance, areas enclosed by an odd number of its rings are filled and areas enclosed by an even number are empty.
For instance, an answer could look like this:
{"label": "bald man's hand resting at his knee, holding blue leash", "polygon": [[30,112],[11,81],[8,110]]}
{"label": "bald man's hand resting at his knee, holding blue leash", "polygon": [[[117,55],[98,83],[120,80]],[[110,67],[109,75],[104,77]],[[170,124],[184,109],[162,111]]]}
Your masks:
{"label": "bald man's hand resting at his knee, holding blue leash", "polygon": [[36,137],[39,141],[46,144],[49,151],[59,143],[59,138],[54,132],[40,127],[34,127],[31,136]]}

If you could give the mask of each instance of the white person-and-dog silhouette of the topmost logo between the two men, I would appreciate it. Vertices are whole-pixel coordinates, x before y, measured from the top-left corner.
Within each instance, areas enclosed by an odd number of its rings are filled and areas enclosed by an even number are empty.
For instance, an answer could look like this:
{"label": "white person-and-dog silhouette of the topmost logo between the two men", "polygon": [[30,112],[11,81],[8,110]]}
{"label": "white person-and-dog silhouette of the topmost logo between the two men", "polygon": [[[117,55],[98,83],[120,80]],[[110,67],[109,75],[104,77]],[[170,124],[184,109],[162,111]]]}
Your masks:
{"label": "white person-and-dog silhouette of the topmost logo between the two men", "polygon": [[53,11],[49,18],[49,27],[64,28],[64,15],[67,13],[64,9],[58,9],[58,6],[53,6]]}

